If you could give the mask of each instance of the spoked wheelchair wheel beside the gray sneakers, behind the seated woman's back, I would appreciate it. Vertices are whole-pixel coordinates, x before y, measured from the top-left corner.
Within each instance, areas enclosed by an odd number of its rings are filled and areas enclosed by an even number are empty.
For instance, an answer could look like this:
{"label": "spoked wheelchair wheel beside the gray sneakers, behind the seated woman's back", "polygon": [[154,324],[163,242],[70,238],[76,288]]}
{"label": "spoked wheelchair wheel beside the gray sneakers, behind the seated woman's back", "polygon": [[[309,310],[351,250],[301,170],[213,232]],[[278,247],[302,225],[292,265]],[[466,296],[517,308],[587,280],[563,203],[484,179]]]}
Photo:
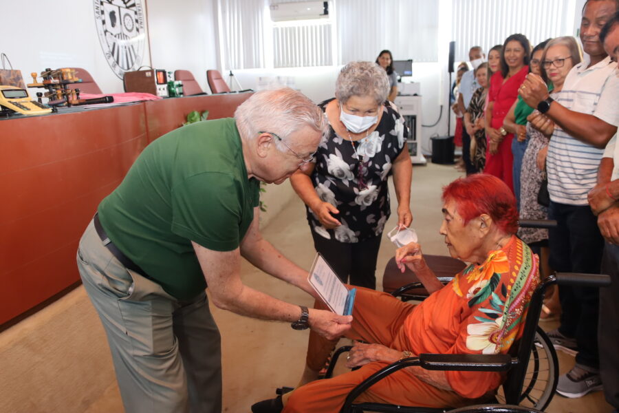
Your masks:
{"label": "spoked wheelchair wheel beside the gray sneakers, behind the seated woman's back", "polygon": [[[558,360],[556,351],[546,333],[538,327],[535,332],[534,346],[529,357],[519,405],[544,410],[554,396],[557,382]],[[499,390],[497,400],[499,403],[505,403],[503,390]]]}

